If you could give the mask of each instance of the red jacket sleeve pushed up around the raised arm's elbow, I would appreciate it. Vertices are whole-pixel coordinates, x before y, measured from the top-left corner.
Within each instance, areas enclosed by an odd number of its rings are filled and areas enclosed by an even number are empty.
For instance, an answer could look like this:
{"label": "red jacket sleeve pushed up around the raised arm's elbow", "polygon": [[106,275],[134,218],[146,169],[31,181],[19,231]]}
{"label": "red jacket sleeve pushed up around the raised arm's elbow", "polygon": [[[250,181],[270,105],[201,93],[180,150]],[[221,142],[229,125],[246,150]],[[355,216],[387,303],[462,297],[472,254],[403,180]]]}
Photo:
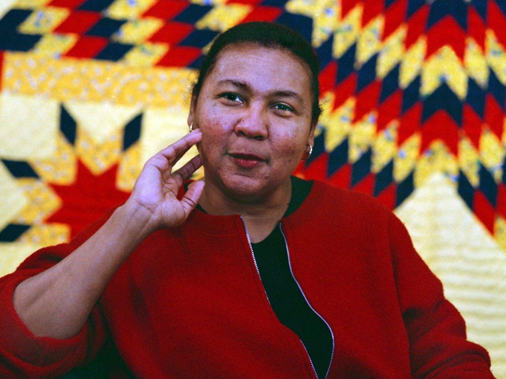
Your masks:
{"label": "red jacket sleeve pushed up around the raised arm's elbow", "polygon": [[76,235],[69,244],[41,249],[30,255],[15,272],[0,278],[0,377],[58,377],[88,362],[100,350],[107,332],[98,305],[75,336],[60,340],[34,336],[16,313],[12,298],[20,282],[65,258],[90,238],[110,214],[112,211]]}

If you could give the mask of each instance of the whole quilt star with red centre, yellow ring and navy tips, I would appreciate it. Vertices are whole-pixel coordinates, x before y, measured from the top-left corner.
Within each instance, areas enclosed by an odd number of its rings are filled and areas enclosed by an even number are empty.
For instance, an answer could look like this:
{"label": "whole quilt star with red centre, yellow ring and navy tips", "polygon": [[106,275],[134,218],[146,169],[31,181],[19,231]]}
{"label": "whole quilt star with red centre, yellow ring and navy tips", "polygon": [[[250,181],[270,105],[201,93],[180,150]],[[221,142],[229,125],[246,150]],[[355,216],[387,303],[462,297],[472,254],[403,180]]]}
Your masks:
{"label": "whole quilt star with red centre, yellow ring and navy tips", "polygon": [[142,114],[97,142],[61,104],[54,154],[2,163],[17,179],[28,204],[0,230],[0,242],[55,244],[129,196],[140,172]]}

